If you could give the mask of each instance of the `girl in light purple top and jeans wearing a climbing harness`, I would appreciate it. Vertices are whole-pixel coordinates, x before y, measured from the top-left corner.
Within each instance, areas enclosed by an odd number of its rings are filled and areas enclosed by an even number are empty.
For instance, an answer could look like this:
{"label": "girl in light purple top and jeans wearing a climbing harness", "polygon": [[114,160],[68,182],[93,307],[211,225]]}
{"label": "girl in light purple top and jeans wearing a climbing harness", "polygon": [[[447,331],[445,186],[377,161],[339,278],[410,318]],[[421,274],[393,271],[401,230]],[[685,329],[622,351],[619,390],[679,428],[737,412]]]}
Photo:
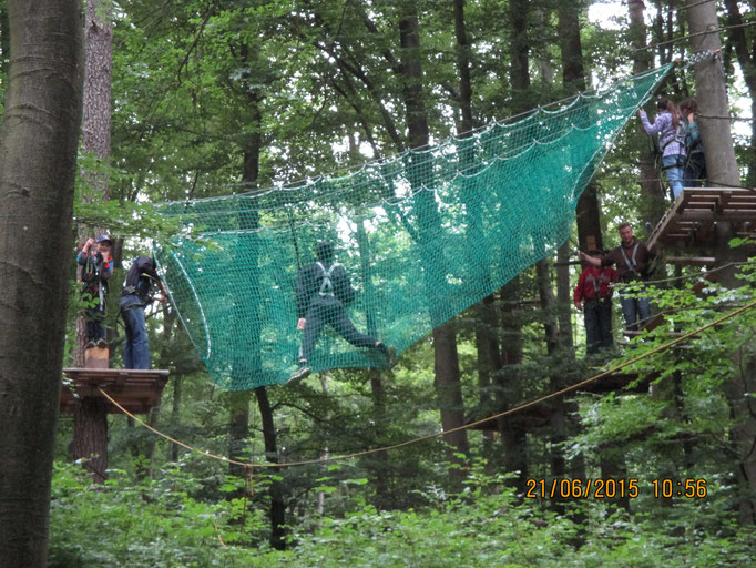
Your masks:
{"label": "girl in light purple top and jeans wearing a climbing harness", "polygon": [[[652,124],[648,116],[641,109],[638,116],[643,130],[647,134],[658,134],[658,146],[662,150],[662,164],[666,171],[666,179],[676,200],[683,193],[683,168],[685,166],[685,125],[680,120],[677,108],[667,99],[660,99],[656,103],[656,119]],[[682,124],[681,124],[682,123]],[[681,128],[682,126],[682,128]]]}

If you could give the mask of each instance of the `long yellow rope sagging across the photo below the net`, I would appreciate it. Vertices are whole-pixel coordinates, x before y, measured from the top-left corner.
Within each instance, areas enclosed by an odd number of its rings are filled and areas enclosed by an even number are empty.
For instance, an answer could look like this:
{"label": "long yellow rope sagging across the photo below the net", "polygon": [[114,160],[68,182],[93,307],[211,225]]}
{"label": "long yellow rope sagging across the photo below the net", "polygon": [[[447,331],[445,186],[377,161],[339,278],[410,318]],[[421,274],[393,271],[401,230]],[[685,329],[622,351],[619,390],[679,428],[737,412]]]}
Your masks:
{"label": "long yellow rope sagging across the photo below the net", "polygon": [[389,452],[389,450],[397,449],[397,448],[401,448],[401,447],[405,447],[405,446],[410,446],[410,445],[412,445],[412,444],[418,444],[418,443],[420,443],[420,442],[426,442],[426,440],[429,440],[429,439],[433,439],[433,438],[438,438],[438,437],[441,437],[441,436],[446,436],[446,435],[452,434],[452,433],[454,433],[454,432],[460,432],[460,430],[473,428],[473,427],[476,427],[476,426],[479,426],[479,425],[481,425],[481,424],[488,423],[488,422],[490,422],[490,420],[494,420],[494,419],[501,418],[501,417],[503,417],[503,416],[509,416],[509,415],[519,413],[519,412],[521,412],[521,410],[524,410],[525,408],[529,408],[529,407],[531,407],[531,406],[535,406],[535,405],[541,404],[541,403],[543,403],[543,402],[545,402],[545,400],[549,400],[549,399],[551,399],[551,398],[556,398],[556,397],[562,396],[562,395],[565,395],[565,394],[568,394],[568,393],[574,392],[574,390],[579,389],[579,388],[582,387],[582,386],[585,386],[585,385],[588,385],[588,384],[590,384],[590,383],[593,383],[593,382],[596,382],[596,381],[599,381],[599,379],[601,379],[601,378],[604,378],[604,377],[606,377],[606,376],[610,376],[610,375],[616,373],[617,371],[620,371],[620,369],[622,369],[622,368],[625,368],[625,367],[627,367],[627,366],[630,366],[630,365],[634,365],[635,363],[638,363],[638,362],[641,362],[641,361],[643,361],[643,359],[646,359],[646,358],[651,357],[652,355],[656,355],[656,354],[658,354],[658,353],[663,353],[663,352],[665,352],[665,351],[667,351],[667,349],[671,349],[671,348],[674,347],[675,345],[677,345],[677,344],[680,344],[680,343],[682,343],[682,342],[684,342],[684,341],[686,341],[686,339],[688,339],[688,338],[691,338],[691,337],[694,337],[694,336],[696,336],[696,335],[698,335],[698,334],[705,332],[706,329],[709,329],[709,328],[715,327],[715,326],[717,326],[717,325],[719,325],[719,324],[722,324],[722,323],[724,323],[724,322],[726,322],[726,321],[728,321],[728,320],[732,320],[733,317],[736,317],[736,316],[743,314],[744,312],[747,312],[748,310],[752,310],[753,307],[756,307],[756,300],[753,301],[753,302],[749,302],[748,304],[746,304],[746,305],[744,305],[744,306],[742,306],[742,307],[739,307],[739,308],[737,308],[737,310],[734,310],[734,311],[729,312],[728,314],[723,315],[722,317],[719,317],[719,318],[717,318],[717,320],[715,320],[715,321],[713,321],[713,322],[709,322],[709,323],[706,324],[706,325],[703,325],[703,326],[701,326],[701,327],[697,327],[696,329],[693,329],[693,331],[691,331],[691,332],[688,332],[688,333],[686,333],[686,334],[684,334],[684,335],[682,335],[682,336],[680,336],[680,337],[676,337],[676,338],[674,338],[674,339],[671,339],[671,341],[668,341],[668,342],[666,342],[666,343],[660,345],[658,347],[655,347],[655,348],[653,348],[653,349],[651,349],[651,351],[648,351],[648,352],[646,352],[646,353],[644,353],[644,354],[642,354],[642,355],[637,355],[637,356],[635,356],[635,357],[630,358],[629,361],[625,361],[625,362],[623,362],[623,363],[620,363],[619,365],[615,365],[614,367],[610,368],[609,371],[604,371],[604,372],[602,372],[602,373],[599,373],[597,375],[594,375],[594,376],[592,376],[592,377],[590,377],[590,378],[586,378],[586,379],[584,379],[584,381],[581,381],[580,383],[575,383],[575,384],[570,385],[570,386],[568,386],[568,387],[564,387],[564,388],[562,388],[562,389],[560,389],[560,390],[556,390],[556,392],[554,392],[554,393],[550,393],[550,394],[548,394],[548,395],[541,396],[541,397],[539,397],[539,398],[535,398],[535,399],[530,400],[530,402],[528,402],[528,403],[521,404],[521,405],[515,406],[515,407],[513,407],[513,408],[510,408],[510,409],[508,409],[508,410],[504,410],[504,412],[501,412],[501,413],[498,413],[498,414],[493,414],[493,415],[491,415],[491,416],[489,416],[489,417],[487,417],[487,418],[482,418],[482,419],[476,420],[476,422],[470,423],[470,424],[464,424],[463,426],[458,426],[458,427],[456,427],[456,428],[450,428],[450,429],[448,429],[448,430],[442,430],[442,432],[438,432],[438,433],[435,433],[435,434],[428,434],[428,435],[426,435],[426,436],[419,436],[419,437],[417,437],[417,438],[412,438],[412,439],[409,439],[409,440],[406,440],[406,442],[401,442],[401,443],[399,443],[399,444],[391,444],[391,445],[389,445],[389,446],[382,446],[382,447],[372,448],[372,449],[365,449],[365,450],[360,450],[360,452],[354,452],[354,453],[350,453],[350,454],[334,455],[334,456],[328,456],[328,457],[325,457],[325,458],[305,459],[305,460],[302,460],[302,462],[283,462],[283,463],[279,463],[279,464],[275,464],[275,463],[239,462],[239,460],[231,459],[231,458],[227,458],[227,457],[224,457],[224,456],[217,456],[217,455],[211,454],[211,453],[208,453],[208,452],[204,452],[204,450],[198,449],[198,448],[196,448],[196,447],[194,447],[194,446],[191,446],[191,445],[188,445],[188,444],[185,444],[185,443],[183,443],[183,442],[180,442],[180,440],[173,438],[172,436],[168,436],[167,434],[163,434],[162,432],[160,432],[160,430],[157,430],[156,428],[150,426],[150,425],[146,424],[144,420],[140,419],[139,417],[134,416],[132,413],[130,413],[129,410],[126,410],[126,409],[125,409],[123,406],[121,406],[112,396],[110,396],[105,390],[103,390],[102,388],[100,388],[100,392],[102,393],[102,395],[103,395],[105,398],[108,398],[108,400],[110,400],[110,402],[111,402],[116,408],[119,408],[123,414],[125,414],[126,416],[130,416],[131,418],[133,418],[135,422],[137,422],[139,424],[141,424],[142,426],[144,426],[145,428],[147,428],[149,430],[151,430],[152,433],[154,433],[154,434],[156,434],[156,435],[159,435],[159,436],[165,438],[166,440],[168,440],[168,442],[171,442],[171,443],[173,443],[173,444],[177,444],[177,445],[180,445],[181,447],[188,449],[190,452],[194,452],[194,453],[196,453],[196,454],[201,454],[201,455],[203,455],[203,456],[205,456],[205,457],[210,457],[210,458],[217,459],[217,460],[221,460],[221,462],[225,462],[225,463],[228,463],[228,464],[234,464],[234,465],[243,466],[243,467],[247,468],[247,469],[251,470],[251,471],[254,470],[255,468],[279,468],[279,467],[295,467],[295,466],[304,466],[304,465],[313,465],[313,464],[324,464],[324,463],[328,463],[328,462],[340,462],[340,460],[351,459],[351,458],[355,458],[355,457],[361,457],[361,456],[366,456],[366,455],[370,455],[370,454],[377,454],[377,453],[380,453],[380,452]]}

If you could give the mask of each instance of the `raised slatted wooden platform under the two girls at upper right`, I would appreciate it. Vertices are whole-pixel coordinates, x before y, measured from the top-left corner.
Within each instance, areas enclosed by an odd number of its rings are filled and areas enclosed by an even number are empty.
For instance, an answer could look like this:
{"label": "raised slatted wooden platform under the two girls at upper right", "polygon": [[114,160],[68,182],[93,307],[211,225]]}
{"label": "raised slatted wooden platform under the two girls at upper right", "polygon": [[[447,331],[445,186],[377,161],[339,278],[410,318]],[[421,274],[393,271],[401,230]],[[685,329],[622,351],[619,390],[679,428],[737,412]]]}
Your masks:
{"label": "raised slatted wooden platform under the two girls at upper right", "polygon": [[756,224],[756,191],[728,187],[685,187],[651,234],[652,247],[714,246],[714,224],[726,221],[752,232]]}

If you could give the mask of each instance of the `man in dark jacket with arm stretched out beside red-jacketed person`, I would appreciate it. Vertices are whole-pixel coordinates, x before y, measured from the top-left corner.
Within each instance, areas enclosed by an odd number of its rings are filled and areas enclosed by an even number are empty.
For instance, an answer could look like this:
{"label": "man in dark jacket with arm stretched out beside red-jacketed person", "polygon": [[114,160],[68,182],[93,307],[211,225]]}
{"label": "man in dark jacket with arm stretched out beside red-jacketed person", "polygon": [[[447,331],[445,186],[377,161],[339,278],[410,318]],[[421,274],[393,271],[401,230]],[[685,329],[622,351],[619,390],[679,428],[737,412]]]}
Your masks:
{"label": "man in dark jacket with arm stretched out beside red-jacketed person", "polygon": [[[581,261],[593,266],[616,265],[617,278],[622,283],[642,283],[646,280],[648,264],[655,255],[648,251],[645,243],[635,239],[630,223],[621,223],[619,230],[622,242],[607,254],[596,257],[580,251],[578,255]],[[647,297],[620,292],[620,304],[629,331],[640,329],[651,318],[651,302]]]}

